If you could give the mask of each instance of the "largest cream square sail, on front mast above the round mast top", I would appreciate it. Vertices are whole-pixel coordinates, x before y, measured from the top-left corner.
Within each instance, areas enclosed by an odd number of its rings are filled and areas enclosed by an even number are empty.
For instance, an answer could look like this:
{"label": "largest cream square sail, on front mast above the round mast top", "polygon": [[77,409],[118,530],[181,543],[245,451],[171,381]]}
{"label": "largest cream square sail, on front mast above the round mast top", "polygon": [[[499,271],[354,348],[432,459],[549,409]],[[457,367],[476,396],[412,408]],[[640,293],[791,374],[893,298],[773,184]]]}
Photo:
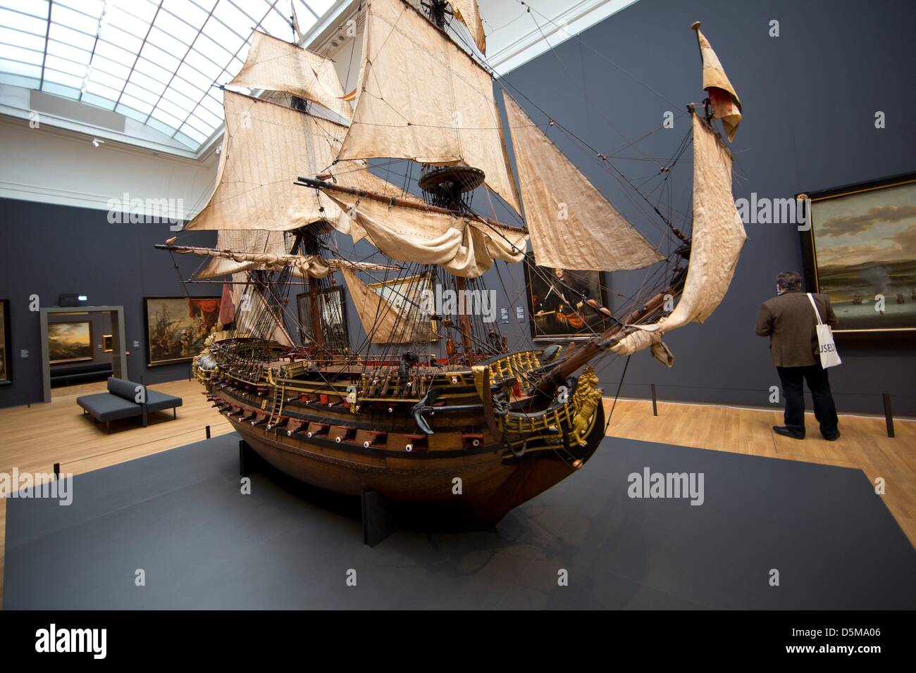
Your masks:
{"label": "largest cream square sail, on front mast above the round mast top", "polygon": [[520,212],[490,74],[404,0],[368,5],[359,89],[339,158],[480,168]]}

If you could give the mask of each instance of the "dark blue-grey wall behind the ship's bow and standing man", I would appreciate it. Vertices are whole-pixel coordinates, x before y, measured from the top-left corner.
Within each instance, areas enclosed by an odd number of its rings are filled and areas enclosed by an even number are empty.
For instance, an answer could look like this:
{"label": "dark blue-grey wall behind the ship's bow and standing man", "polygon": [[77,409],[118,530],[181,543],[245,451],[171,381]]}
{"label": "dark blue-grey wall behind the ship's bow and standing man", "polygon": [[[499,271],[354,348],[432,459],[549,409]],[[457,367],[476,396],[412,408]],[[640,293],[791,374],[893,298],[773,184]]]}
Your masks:
{"label": "dark blue-grey wall behind the ship's bow and standing man", "polygon": [[[769,37],[771,19],[780,21],[779,38]],[[791,198],[916,170],[912,3],[640,0],[585,31],[581,41],[570,39],[513,71],[507,81],[576,136],[615,154],[627,144],[625,138],[659,127],[665,111],[679,114],[684,103],[703,99],[700,58],[690,29],[695,20],[703,21],[703,33],[744,105],[744,121],[732,146],[736,198],[749,198],[752,191],[759,197]],[[516,99],[536,122],[545,120],[533,104]],[[885,129],[874,126],[878,110],[887,115]],[[674,129],[661,130],[638,147],[649,157],[670,157],[688,124],[682,116]],[[647,226],[647,217],[594,157],[555,130],[549,136],[652,237],[656,230]],[[641,156],[637,147],[619,154]],[[652,164],[645,161],[616,159],[614,164],[631,178],[652,173]],[[691,164],[679,164],[676,171],[681,174],[675,178],[674,202],[684,208]],[[646,353],[633,356],[623,395],[648,396],[649,384],[655,383],[665,399],[769,404],[769,386],[779,385],[779,378],[769,364],[767,342],[754,335],[754,322],[760,302],[773,294],[776,273],[802,271],[802,254],[792,225],[749,224],[747,234],[721,307],[704,325],[666,337],[676,358],[672,369]],[[622,292],[635,287],[625,274],[614,275],[611,285]],[[888,392],[895,396],[895,412],[916,416],[913,342],[912,335],[839,337],[844,364],[830,375],[840,410],[879,412],[879,395]],[[621,365],[619,359],[606,365],[605,393],[616,390]]]}

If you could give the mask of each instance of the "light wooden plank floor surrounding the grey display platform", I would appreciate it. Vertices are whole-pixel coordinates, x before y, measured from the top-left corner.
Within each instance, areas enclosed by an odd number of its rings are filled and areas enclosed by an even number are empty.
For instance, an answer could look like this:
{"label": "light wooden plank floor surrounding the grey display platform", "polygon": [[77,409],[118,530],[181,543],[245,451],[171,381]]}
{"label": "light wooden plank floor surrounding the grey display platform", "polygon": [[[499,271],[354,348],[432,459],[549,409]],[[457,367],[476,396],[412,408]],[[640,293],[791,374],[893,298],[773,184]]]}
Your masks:
{"label": "light wooden plank floor surrounding the grey display platform", "polygon": [[[104,391],[105,383],[61,388],[50,404],[0,409],[0,472],[80,474],[204,439],[204,427],[213,437],[231,431],[229,423],[191,381],[151,385],[169,395],[180,396],[184,406],[177,420],[171,414],[150,418],[147,428],[136,420],[118,421],[106,434],[76,406],[77,396]],[[610,400],[605,400],[609,412]],[[659,403],[659,416],[652,416],[649,402],[618,400],[607,434],[633,440],[748,453],[792,461],[861,468],[874,482],[883,477],[885,503],[916,545],[916,422],[896,422],[897,437],[889,439],[883,418],[841,417],[842,437],[821,439],[809,416],[806,440],[775,435],[771,426],[781,424],[781,413],[769,410]],[[49,438],[53,438],[49,440]],[[865,478],[865,477],[863,477]],[[878,497],[878,496],[876,496]],[[0,601],[3,598],[6,505],[0,498]]]}

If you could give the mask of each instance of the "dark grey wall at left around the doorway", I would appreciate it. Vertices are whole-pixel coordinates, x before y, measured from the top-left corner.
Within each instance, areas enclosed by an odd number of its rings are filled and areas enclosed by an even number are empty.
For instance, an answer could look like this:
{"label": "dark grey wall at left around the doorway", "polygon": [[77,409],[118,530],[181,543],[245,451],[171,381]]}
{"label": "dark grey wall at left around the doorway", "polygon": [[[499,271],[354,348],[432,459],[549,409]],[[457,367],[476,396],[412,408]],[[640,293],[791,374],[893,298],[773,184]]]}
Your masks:
{"label": "dark grey wall at left around the doorway", "polygon": [[[66,293],[87,295],[90,306],[124,306],[131,380],[155,384],[189,375],[190,364],[147,367],[143,298],[219,296],[221,288],[180,283],[169,253],[153,248],[170,235],[168,224],[110,224],[104,211],[0,200],[0,299],[10,300],[13,367],[13,383],[0,386],[0,407],[41,400],[38,312],[28,309],[33,294],[43,307],[57,306]],[[213,245],[215,234],[185,233],[182,243]],[[189,256],[176,259],[183,278],[199,264]],[[28,351],[25,360],[22,350]]]}

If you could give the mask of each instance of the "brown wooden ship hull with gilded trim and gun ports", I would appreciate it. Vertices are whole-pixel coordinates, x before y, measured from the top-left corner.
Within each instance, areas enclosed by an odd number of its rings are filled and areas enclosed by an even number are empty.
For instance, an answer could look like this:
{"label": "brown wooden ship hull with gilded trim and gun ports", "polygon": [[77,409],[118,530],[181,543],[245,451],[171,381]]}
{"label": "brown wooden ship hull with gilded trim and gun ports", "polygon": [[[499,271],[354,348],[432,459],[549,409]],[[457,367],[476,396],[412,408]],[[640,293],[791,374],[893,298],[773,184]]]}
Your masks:
{"label": "brown wooden ship hull with gilded trim and gun ports", "polygon": [[[280,472],[340,494],[373,489],[391,500],[448,505],[484,525],[496,524],[576,472],[605,433],[601,392],[592,373],[585,374],[585,385],[570,380],[565,402],[535,414],[509,410],[488,425],[474,374],[482,383],[490,374],[496,380],[500,365],[509,374],[508,361],[537,366],[533,352],[496,358],[477,372],[431,374],[431,386],[442,390],[422,412],[431,434],[420,429],[411,412],[420,396],[402,395],[397,382],[385,395],[357,397],[356,403],[347,401],[346,388],[355,379],[345,367],[326,369],[320,380],[310,380],[309,374],[287,378],[290,365],[266,366],[252,375],[250,367],[244,374],[231,366],[214,368],[217,353],[208,350],[195,358],[195,376],[248,446]],[[481,373],[483,368],[490,372]],[[339,395],[328,394],[324,378],[329,374],[340,381],[334,386]],[[423,376],[416,374],[409,383]],[[525,407],[526,400],[512,406]]]}

